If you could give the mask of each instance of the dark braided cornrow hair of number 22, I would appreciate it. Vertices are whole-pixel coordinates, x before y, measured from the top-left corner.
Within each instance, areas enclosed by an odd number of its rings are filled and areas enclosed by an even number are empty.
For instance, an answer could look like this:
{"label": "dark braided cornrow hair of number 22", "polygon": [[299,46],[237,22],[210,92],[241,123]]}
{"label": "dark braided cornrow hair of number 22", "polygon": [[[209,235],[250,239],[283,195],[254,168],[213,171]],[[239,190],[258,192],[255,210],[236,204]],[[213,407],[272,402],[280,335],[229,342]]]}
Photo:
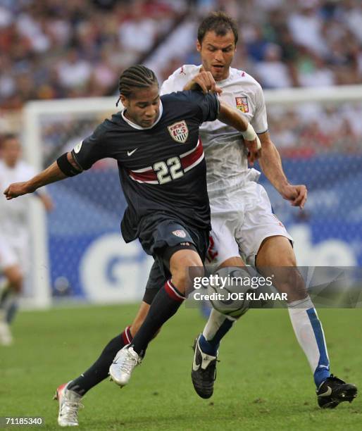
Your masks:
{"label": "dark braided cornrow hair of number 22", "polygon": [[125,97],[130,97],[135,89],[148,88],[152,85],[158,85],[158,80],[154,71],[146,68],[144,65],[134,65],[127,68],[119,80],[119,91]]}

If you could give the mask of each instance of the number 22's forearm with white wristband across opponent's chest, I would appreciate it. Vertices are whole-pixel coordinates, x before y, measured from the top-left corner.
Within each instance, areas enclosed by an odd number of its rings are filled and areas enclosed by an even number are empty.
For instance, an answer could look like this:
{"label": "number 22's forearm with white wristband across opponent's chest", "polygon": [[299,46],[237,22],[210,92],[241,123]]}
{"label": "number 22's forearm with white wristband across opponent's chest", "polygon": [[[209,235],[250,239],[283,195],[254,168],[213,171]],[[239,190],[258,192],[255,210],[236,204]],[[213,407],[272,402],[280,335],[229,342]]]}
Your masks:
{"label": "number 22's forearm with white wristband across opponent's chest", "polygon": [[224,101],[220,101],[218,120],[230,125],[231,127],[234,127],[236,130],[241,132],[242,136],[244,137],[246,148],[249,150],[249,163],[253,165],[256,158],[259,158],[261,155],[261,142],[258,138],[258,135],[256,135],[254,127],[248,123],[246,118],[244,118],[244,116],[239,113],[237,109],[232,108]]}

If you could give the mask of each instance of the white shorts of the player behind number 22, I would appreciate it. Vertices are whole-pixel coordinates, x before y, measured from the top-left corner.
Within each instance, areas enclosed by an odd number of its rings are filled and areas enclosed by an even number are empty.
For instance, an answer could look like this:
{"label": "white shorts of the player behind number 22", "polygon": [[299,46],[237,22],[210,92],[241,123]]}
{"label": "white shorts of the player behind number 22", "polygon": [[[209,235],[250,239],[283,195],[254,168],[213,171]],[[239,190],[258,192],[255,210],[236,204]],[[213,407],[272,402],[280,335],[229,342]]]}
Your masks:
{"label": "white shorts of the player behind number 22", "polygon": [[266,189],[257,182],[246,182],[239,189],[210,199],[211,238],[207,266],[218,268],[228,258],[242,256],[255,265],[261,243],[280,235],[291,242],[284,225],[272,212]]}

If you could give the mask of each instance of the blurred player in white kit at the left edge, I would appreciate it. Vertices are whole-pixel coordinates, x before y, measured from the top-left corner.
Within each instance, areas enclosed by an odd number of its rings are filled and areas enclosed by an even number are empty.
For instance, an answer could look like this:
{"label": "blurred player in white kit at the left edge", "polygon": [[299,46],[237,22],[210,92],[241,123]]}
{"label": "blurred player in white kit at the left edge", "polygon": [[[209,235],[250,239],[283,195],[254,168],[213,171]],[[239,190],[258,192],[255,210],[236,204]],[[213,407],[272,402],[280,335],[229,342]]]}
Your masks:
{"label": "blurred player in white kit at the left edge", "polygon": [[[21,146],[15,135],[6,135],[1,145],[0,187],[20,182],[35,174],[33,168],[20,160]],[[46,210],[51,210],[51,199],[42,192],[37,194]],[[29,230],[27,196],[6,202],[0,199],[0,344],[11,344],[9,323],[13,320],[17,299],[23,288],[24,276],[29,269]]]}

